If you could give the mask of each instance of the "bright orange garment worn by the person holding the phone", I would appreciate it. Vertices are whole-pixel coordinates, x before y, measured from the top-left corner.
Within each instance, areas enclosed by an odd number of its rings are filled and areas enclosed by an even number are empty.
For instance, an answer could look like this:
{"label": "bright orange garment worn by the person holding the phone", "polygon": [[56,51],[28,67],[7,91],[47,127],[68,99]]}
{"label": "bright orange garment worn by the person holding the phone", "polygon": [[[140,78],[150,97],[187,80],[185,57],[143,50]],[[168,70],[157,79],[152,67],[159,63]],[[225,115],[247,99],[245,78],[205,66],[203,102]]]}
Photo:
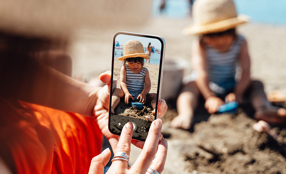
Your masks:
{"label": "bright orange garment worn by the person holding the phone", "polygon": [[88,173],[101,151],[95,119],[0,96],[0,155],[22,173]]}

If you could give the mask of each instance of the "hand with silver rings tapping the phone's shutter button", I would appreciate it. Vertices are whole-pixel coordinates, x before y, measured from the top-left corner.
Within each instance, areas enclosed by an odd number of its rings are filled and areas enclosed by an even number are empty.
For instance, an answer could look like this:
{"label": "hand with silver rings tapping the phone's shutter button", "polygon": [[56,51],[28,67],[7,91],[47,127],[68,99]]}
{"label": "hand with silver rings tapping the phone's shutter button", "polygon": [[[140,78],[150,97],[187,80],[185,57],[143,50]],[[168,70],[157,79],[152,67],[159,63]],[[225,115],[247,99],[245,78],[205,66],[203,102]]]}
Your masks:
{"label": "hand with silver rings tapping the phone's shutter button", "polygon": [[[125,160],[114,160],[107,171],[109,173],[146,173],[147,170],[156,170],[161,173],[167,157],[167,140],[163,139],[159,142],[161,137],[162,121],[157,119],[152,122],[150,131],[148,133],[145,145],[138,159],[132,167],[128,167]],[[115,153],[124,152],[130,154],[130,143],[133,134],[133,125],[128,122],[124,125],[120,135],[120,140],[117,144]],[[100,155],[94,157],[91,162],[89,174],[103,173],[104,166],[107,164],[111,156],[109,149],[104,150]],[[116,159],[116,158],[115,158]],[[149,166],[151,168],[149,168]]]}

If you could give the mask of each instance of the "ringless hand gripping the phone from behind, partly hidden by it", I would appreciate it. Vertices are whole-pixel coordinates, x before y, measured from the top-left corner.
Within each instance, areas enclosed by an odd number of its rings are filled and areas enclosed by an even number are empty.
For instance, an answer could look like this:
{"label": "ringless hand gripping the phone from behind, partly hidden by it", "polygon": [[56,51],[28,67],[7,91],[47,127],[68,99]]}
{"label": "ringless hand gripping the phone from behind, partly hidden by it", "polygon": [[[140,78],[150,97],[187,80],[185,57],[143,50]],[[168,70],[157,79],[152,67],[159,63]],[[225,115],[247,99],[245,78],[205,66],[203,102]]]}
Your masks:
{"label": "ringless hand gripping the phone from behind, partly hidden by it", "polygon": [[[99,76],[100,80],[107,85],[97,90],[94,94],[97,96],[96,105],[94,107],[93,114],[95,115],[95,120],[104,136],[109,140],[112,149],[116,149],[118,143],[118,135],[112,134],[108,129],[108,107],[109,107],[109,92],[110,92],[110,71],[106,71]],[[158,102],[158,118],[162,118],[166,113],[168,107],[164,100]],[[132,144],[138,148],[143,148],[145,142],[132,140]]]}

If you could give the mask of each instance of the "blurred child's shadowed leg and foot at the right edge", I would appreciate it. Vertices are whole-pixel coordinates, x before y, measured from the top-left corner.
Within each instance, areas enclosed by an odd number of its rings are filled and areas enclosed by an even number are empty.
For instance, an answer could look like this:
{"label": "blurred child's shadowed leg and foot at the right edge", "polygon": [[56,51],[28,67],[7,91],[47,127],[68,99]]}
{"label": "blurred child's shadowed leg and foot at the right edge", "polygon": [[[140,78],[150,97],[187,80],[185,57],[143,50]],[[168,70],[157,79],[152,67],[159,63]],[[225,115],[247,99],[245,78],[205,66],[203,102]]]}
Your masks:
{"label": "blurred child's shadowed leg and foot at the right edge", "polygon": [[266,98],[262,82],[252,81],[249,88],[249,97],[255,110],[254,119],[263,120],[270,124],[285,122],[286,110],[270,104]]}

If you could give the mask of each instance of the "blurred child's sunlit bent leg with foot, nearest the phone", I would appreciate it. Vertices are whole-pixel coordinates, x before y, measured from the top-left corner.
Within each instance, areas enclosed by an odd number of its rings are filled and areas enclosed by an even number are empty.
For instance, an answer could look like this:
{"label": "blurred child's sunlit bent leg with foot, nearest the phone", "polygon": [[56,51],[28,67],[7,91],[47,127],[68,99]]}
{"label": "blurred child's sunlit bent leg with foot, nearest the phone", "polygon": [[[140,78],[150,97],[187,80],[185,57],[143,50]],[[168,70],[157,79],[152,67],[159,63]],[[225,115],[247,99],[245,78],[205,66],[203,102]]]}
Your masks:
{"label": "blurred child's sunlit bent leg with foot, nearest the phone", "polygon": [[199,90],[196,83],[189,82],[180,93],[177,99],[176,116],[171,121],[172,128],[190,129],[193,124],[194,110],[197,108]]}

